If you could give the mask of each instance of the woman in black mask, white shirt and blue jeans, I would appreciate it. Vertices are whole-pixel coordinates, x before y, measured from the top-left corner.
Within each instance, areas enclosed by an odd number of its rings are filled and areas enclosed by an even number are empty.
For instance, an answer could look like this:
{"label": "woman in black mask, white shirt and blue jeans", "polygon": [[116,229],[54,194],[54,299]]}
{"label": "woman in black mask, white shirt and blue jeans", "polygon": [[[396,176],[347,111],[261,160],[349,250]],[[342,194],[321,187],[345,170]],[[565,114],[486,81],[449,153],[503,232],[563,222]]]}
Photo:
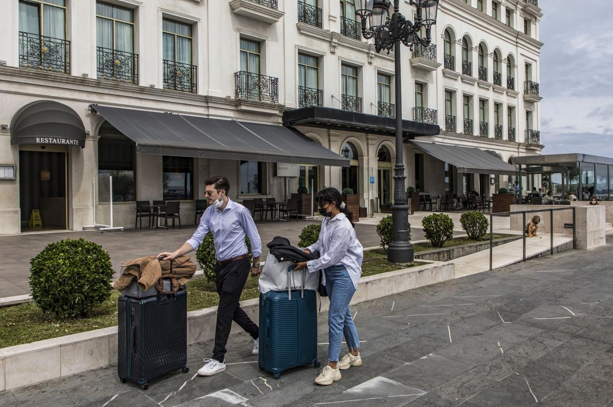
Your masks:
{"label": "woman in black mask, white shirt and blue jeans", "polygon": [[[318,241],[305,248],[305,252],[319,251],[317,260],[298,263],[296,270],[307,267],[309,272],[321,270],[322,282],[330,299],[328,310],[328,364],[321,370],[315,383],[327,386],[341,379],[340,370],[362,365],[356,326],[349,302],[356,292],[362,274],[364,249],[357,240],[353,214],[342,201],[336,188],[324,188],[316,198],[319,214],[324,216]],[[349,353],[340,358],[343,334]]]}

